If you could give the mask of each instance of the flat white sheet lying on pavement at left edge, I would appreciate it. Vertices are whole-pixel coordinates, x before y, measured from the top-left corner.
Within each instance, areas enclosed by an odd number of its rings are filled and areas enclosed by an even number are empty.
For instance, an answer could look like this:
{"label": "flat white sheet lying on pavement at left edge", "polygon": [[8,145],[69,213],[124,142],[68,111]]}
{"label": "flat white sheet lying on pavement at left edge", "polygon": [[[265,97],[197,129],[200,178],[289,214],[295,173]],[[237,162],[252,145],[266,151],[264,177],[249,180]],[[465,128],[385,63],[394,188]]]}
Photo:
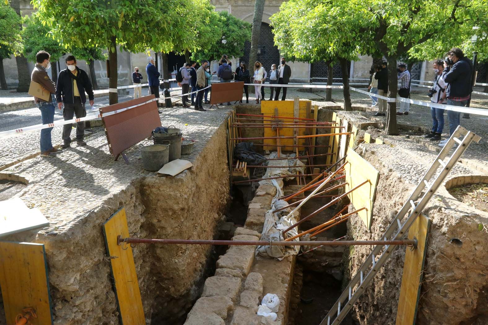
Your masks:
{"label": "flat white sheet lying on pavement at left edge", "polygon": [[29,209],[18,197],[0,201],[0,237],[49,225],[42,212]]}

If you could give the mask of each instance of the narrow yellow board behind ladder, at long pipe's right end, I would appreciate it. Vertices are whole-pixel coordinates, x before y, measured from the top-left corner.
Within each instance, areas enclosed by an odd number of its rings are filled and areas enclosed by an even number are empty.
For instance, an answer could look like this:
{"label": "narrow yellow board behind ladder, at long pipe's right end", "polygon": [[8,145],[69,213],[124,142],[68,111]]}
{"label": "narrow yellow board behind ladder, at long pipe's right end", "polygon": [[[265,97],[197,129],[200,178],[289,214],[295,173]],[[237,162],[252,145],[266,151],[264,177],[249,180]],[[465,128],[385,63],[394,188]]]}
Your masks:
{"label": "narrow yellow board behind ladder, at long pipe's right end", "polygon": [[430,219],[421,214],[408,229],[408,239],[418,240],[417,248],[405,251],[403,265],[402,287],[396,325],[414,325],[420,299],[420,289],[423,278],[424,264],[427,252],[427,237],[430,229]]}

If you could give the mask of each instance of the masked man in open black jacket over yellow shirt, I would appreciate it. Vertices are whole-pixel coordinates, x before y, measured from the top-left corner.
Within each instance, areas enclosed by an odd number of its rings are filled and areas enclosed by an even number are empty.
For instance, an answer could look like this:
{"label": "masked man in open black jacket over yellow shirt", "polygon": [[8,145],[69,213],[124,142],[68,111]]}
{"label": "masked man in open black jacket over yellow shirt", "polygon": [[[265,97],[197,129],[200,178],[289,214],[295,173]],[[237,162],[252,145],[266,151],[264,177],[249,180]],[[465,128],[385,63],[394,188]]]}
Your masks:
{"label": "masked man in open black jacket over yellow shirt", "polygon": [[[67,69],[60,72],[58,76],[58,83],[56,84],[56,100],[58,101],[58,108],[61,110],[64,103],[64,110],[62,115],[64,120],[73,119],[86,116],[85,103],[86,96],[90,100],[90,105],[93,106],[93,89],[86,72],[76,66],[76,58],[72,55],[65,59]],[[66,124],[62,130],[63,144],[61,148],[68,148],[71,143],[71,124]],[[85,146],[83,141],[85,135],[85,122],[76,123],[76,143],[79,146]]]}

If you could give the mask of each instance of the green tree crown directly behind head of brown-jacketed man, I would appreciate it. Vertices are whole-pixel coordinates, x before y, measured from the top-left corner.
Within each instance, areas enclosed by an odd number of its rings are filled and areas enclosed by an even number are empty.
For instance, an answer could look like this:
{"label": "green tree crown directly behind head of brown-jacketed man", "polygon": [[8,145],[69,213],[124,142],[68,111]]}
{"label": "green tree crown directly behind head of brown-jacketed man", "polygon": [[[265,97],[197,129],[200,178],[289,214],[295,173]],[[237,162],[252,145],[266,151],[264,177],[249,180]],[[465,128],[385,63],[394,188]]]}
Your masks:
{"label": "green tree crown directly behind head of brown-jacketed man", "polygon": [[51,55],[51,60],[58,61],[65,54],[65,49],[53,38],[48,26],[43,25],[38,13],[33,13],[30,17],[23,18],[25,27],[22,29],[24,39],[24,55],[27,60],[36,62],[36,54],[47,51]]}

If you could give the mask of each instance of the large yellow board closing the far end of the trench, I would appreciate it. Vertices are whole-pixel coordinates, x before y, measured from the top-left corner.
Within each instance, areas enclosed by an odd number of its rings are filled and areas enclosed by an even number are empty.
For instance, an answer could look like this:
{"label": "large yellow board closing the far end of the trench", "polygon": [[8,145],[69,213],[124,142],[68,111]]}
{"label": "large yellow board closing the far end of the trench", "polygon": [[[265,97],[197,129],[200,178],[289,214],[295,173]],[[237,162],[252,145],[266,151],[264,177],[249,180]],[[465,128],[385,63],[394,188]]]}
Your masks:
{"label": "large yellow board closing the far end of the trench", "polygon": [[[311,103],[310,100],[300,100],[298,106],[298,117],[307,118],[307,102]],[[310,110],[311,105],[308,105],[308,110]],[[294,101],[291,100],[265,100],[261,103],[261,113],[263,115],[275,115],[275,109],[278,110],[279,116],[283,117],[295,117],[294,116]],[[310,112],[308,113],[308,115]],[[293,119],[283,119],[284,123],[291,123]],[[263,124],[270,124],[270,121],[263,121]],[[305,128],[298,129],[298,135],[305,135]],[[276,136],[276,130],[271,128],[264,129],[264,137]],[[293,128],[283,128],[280,129],[280,136],[293,136]],[[305,145],[306,139],[298,139],[299,145]],[[269,144],[269,146],[264,146],[264,150],[270,150],[276,147],[276,139],[264,139],[264,144]],[[295,151],[296,148],[291,147],[293,145],[293,139],[280,139],[282,145],[289,145],[290,147],[282,147],[284,151]],[[304,150],[304,147],[298,148],[299,150]]]}

